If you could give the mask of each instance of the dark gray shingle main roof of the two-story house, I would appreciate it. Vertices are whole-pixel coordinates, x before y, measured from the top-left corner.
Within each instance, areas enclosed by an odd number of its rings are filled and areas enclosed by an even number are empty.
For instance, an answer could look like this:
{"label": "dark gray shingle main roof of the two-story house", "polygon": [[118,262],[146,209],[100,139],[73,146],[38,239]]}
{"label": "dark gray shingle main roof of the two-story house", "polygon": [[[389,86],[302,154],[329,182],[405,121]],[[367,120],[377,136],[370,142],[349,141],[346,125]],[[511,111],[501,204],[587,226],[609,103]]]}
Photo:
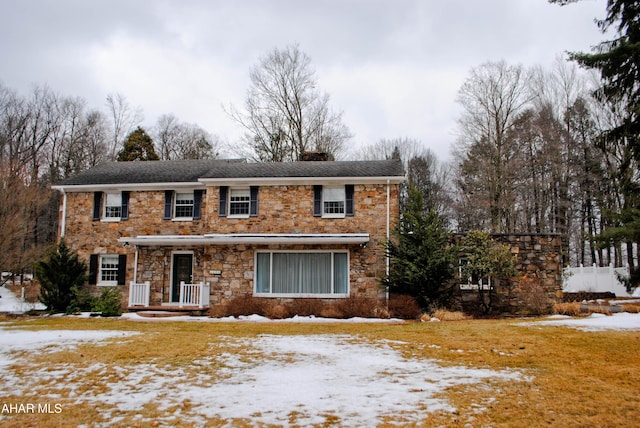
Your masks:
{"label": "dark gray shingle main roof of the two-story house", "polygon": [[186,183],[200,178],[401,177],[399,160],[245,163],[240,160],[108,162],[64,180],[61,186]]}

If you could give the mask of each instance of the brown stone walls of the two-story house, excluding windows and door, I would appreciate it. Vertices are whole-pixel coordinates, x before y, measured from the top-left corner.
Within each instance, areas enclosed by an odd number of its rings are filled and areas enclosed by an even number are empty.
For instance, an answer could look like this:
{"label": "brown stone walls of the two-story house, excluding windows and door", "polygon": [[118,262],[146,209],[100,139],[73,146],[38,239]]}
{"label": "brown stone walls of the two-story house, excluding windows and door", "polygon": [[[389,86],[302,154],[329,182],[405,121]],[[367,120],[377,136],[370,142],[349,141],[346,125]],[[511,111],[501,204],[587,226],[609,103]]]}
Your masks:
{"label": "brown stone walls of the two-story house, excluding windows and door", "polygon": [[[259,184],[259,183],[256,183]],[[222,305],[235,296],[253,293],[256,250],[348,250],[349,292],[351,296],[383,298],[380,279],[385,274],[383,244],[387,227],[393,227],[399,215],[397,184],[355,184],[354,215],[322,218],[313,215],[313,185],[262,185],[258,192],[258,215],[247,218],[220,217],[219,186],[204,190],[198,220],[163,219],[164,190],[135,190],[129,193],[128,219],[93,220],[94,192],[65,193],[64,221],[66,243],[87,263],[93,254],[126,255],[126,284],[151,283],[150,305],[169,301],[172,255],[193,255],[193,281],[210,284],[212,306]],[[389,198],[387,199],[387,196]],[[390,221],[387,224],[387,204]],[[205,234],[369,234],[366,246],[332,245],[126,245],[123,237],[140,235]],[[136,265],[137,260],[137,265]],[[134,275],[136,276],[134,278]],[[99,289],[100,287],[97,287]]]}

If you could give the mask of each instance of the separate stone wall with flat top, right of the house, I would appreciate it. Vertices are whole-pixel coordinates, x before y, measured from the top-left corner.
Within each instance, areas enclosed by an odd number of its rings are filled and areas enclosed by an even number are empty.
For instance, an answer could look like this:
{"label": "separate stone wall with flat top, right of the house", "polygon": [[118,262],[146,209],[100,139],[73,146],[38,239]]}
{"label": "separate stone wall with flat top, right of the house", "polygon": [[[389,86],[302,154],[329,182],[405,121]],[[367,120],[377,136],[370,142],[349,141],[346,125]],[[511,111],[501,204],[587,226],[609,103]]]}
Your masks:
{"label": "separate stone wall with flat top, right of the house", "polygon": [[[536,314],[548,312],[562,302],[562,270],[566,248],[559,234],[493,234],[494,241],[507,245],[520,273],[516,278],[494,280],[493,310],[499,313]],[[460,288],[460,287],[458,287]],[[458,290],[467,311],[478,308],[477,290]]]}

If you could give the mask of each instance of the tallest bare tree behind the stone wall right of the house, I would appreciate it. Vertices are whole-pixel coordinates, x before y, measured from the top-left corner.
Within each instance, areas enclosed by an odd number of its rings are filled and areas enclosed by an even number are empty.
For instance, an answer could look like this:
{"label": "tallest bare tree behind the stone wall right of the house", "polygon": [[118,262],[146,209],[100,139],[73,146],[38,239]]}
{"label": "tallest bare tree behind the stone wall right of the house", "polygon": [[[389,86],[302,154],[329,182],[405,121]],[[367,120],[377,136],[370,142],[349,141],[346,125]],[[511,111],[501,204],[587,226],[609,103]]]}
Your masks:
{"label": "tallest bare tree behind the stone wall right of the house", "polygon": [[[532,100],[528,73],[504,61],[489,62],[471,70],[458,92],[463,108],[459,120],[459,204],[468,210],[460,224],[471,229],[507,232],[514,228],[514,196],[518,187],[521,147],[508,133]],[[488,223],[478,217],[489,213]],[[475,213],[474,213],[475,212]]]}

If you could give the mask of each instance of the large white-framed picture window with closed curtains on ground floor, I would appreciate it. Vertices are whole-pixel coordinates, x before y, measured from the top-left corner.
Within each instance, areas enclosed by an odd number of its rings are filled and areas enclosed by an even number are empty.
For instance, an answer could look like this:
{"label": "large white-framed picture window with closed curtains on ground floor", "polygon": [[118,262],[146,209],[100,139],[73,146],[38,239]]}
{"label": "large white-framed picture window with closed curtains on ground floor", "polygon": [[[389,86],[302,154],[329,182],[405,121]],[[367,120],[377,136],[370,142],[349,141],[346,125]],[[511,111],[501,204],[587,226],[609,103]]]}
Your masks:
{"label": "large white-framed picture window with closed curtains on ground floor", "polygon": [[348,297],[346,251],[258,251],[255,294],[263,297]]}

